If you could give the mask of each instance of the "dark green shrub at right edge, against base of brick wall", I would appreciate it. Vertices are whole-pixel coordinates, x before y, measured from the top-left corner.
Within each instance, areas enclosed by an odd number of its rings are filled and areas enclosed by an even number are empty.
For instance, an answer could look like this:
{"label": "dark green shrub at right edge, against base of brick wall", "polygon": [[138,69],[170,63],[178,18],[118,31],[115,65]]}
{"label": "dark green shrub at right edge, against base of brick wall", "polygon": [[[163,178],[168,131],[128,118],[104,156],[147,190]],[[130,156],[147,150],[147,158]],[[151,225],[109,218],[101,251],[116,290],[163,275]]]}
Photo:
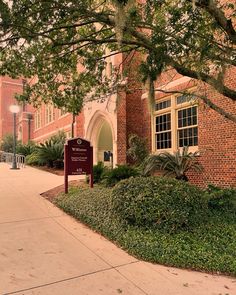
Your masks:
{"label": "dark green shrub at right edge, against base of brick wall", "polygon": [[209,208],[236,212],[236,189],[209,185],[206,192]]}

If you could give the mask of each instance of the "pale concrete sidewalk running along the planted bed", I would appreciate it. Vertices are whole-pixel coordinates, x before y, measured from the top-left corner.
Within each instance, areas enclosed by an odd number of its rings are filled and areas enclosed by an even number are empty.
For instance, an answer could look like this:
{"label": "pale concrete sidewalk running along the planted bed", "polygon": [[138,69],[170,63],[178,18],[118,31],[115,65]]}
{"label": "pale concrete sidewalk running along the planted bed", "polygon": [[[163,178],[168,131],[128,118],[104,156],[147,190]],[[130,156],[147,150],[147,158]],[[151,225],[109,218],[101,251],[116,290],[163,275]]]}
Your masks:
{"label": "pale concrete sidewalk running along the planted bed", "polygon": [[39,196],[62,183],[0,163],[0,295],[236,294],[236,278],[138,261]]}

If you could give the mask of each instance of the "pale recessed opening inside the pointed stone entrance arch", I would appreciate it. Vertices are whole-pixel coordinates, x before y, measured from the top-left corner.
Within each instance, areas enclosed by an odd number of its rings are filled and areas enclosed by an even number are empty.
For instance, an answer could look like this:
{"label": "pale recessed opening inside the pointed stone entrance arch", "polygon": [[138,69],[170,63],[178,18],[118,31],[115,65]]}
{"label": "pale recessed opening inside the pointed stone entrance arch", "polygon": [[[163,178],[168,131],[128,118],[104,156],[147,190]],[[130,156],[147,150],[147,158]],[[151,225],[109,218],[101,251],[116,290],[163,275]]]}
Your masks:
{"label": "pale recessed opening inside the pointed stone entrance arch", "polygon": [[103,121],[97,136],[97,162],[113,166],[113,136],[107,121]]}

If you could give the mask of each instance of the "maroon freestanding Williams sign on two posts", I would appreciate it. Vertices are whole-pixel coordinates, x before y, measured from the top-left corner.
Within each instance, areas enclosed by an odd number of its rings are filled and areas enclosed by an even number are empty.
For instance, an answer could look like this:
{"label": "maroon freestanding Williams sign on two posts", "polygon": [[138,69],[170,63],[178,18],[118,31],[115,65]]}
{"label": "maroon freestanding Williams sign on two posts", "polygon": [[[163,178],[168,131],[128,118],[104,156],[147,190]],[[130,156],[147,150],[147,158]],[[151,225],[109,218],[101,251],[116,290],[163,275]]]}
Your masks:
{"label": "maroon freestanding Williams sign on two posts", "polygon": [[93,147],[82,138],[73,138],[64,146],[65,193],[68,193],[68,175],[90,175],[93,187]]}

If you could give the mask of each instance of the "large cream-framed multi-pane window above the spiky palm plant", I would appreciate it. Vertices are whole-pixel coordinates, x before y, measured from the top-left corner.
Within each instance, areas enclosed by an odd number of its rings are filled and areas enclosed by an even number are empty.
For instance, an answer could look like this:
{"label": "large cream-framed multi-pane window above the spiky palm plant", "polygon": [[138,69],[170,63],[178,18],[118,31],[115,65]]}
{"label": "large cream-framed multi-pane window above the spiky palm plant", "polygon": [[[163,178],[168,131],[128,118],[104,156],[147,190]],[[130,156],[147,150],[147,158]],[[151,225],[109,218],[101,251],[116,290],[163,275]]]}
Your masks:
{"label": "large cream-framed multi-pane window above the spiky palm plant", "polygon": [[198,107],[194,96],[181,95],[156,103],[155,150],[177,150],[198,145]]}

